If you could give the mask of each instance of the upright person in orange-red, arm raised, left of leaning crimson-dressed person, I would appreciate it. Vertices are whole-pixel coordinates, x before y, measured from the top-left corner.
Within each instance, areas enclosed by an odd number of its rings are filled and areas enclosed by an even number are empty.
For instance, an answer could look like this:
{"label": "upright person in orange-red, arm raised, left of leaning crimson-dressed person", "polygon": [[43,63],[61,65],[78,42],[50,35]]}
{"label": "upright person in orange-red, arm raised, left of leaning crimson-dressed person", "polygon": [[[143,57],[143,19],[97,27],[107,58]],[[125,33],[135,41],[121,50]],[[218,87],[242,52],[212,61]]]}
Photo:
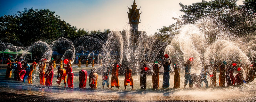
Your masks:
{"label": "upright person in orange-red, arm raised, left of leaning crimson-dressed person", "polygon": [[40,78],[40,84],[44,85],[44,69],[46,67],[46,59],[41,60],[41,63],[39,64],[39,78]]}

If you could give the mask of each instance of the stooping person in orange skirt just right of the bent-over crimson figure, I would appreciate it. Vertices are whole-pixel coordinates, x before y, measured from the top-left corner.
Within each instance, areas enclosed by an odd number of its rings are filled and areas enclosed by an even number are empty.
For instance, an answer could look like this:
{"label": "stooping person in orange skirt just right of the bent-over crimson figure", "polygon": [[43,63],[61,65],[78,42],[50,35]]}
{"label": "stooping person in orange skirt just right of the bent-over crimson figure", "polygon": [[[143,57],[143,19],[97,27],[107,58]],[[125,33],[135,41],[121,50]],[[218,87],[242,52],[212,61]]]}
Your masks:
{"label": "stooping person in orange skirt just right of the bent-over crimson figure", "polygon": [[97,80],[98,80],[98,74],[96,73],[95,69],[91,69],[91,73],[89,75],[89,83],[92,89],[97,88]]}

